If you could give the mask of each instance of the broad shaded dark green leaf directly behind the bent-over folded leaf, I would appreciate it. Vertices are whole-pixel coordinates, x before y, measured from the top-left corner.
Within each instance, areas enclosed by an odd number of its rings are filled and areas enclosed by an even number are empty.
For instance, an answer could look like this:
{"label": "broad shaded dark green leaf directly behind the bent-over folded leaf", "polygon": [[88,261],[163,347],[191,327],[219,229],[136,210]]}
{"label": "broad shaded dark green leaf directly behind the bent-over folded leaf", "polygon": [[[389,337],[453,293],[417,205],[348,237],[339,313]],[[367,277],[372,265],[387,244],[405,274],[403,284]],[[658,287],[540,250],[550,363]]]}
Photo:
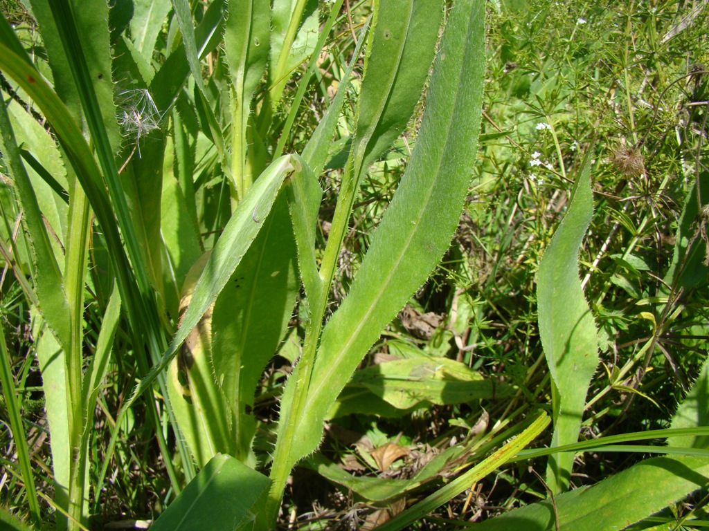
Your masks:
{"label": "broad shaded dark green leaf directly behind the bent-over folded leaf", "polygon": [[217,297],[211,321],[213,374],[233,411],[233,455],[242,461],[256,433],[256,387],[286,333],[300,287],[285,190],[263,225]]}

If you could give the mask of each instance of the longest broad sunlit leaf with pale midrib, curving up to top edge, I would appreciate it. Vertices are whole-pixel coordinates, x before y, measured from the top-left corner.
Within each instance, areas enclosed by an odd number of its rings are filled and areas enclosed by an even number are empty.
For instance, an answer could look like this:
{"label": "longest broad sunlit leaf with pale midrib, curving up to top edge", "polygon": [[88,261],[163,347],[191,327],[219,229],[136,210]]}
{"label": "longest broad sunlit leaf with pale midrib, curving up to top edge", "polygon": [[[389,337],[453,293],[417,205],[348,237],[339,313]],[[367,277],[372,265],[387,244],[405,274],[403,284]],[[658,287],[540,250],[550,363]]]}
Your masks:
{"label": "longest broad sunlit leaf with pale midrib, curving up to top edge", "polygon": [[[485,63],[483,14],[477,1],[454,6],[416,149],[350,294],[323,330],[303,415],[289,419],[284,397],[281,426],[299,426],[289,450],[293,463],[319,445],[323,418],[354,368],[450,244],[476,156]],[[380,30],[386,33],[385,26]],[[291,376],[286,392],[296,381]]]}

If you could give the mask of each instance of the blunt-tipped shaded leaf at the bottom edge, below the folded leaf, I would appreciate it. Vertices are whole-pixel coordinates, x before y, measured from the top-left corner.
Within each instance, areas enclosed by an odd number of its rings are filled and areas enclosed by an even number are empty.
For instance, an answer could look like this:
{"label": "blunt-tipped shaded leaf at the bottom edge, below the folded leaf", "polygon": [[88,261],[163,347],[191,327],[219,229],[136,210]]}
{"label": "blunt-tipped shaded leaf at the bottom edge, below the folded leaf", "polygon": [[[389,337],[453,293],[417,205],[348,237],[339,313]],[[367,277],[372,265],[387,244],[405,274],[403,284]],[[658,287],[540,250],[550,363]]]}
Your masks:
{"label": "blunt-tipped shaded leaf at the bottom edge, below the folded leaf", "polygon": [[152,531],[240,530],[252,523],[266,476],[228,455],[218,455],[150,527]]}

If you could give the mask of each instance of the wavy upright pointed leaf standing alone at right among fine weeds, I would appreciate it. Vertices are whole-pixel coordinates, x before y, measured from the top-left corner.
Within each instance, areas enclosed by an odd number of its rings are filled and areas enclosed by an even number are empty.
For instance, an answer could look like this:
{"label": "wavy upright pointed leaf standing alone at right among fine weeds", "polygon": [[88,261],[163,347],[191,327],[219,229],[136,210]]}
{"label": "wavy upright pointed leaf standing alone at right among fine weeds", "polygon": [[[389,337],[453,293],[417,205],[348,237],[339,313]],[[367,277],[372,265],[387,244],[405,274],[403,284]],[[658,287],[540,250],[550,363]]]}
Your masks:
{"label": "wavy upright pointed leaf standing alone at right among fine weeds", "polygon": [[[576,178],[568,210],[537,275],[537,304],[542,346],[552,374],[554,435],[552,446],[576,442],[586,392],[598,365],[598,337],[579,280],[579,248],[593,214],[589,148]],[[574,455],[549,457],[547,482],[552,491],[568,488]]]}

